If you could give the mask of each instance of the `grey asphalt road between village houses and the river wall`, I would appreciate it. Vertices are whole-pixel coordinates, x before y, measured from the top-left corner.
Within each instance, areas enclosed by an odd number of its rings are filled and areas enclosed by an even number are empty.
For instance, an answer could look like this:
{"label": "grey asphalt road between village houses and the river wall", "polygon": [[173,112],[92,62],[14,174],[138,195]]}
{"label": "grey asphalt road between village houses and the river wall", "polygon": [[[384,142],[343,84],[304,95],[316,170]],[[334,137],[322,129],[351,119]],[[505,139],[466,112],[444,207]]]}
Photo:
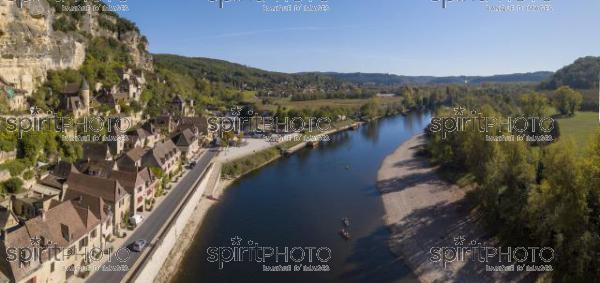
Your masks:
{"label": "grey asphalt road between village houses and the river wall", "polygon": [[148,219],[145,219],[144,222],[142,222],[142,224],[133,232],[133,235],[129,238],[129,240],[120,247],[122,248],[122,252],[119,253],[122,255],[120,258],[125,259],[128,257],[127,260],[121,262],[117,260],[116,256],[113,256],[110,262],[104,263],[100,267],[100,270],[96,271],[92,277],[87,280],[87,282],[121,282],[127,273],[126,271],[123,271],[123,267],[127,266],[126,269],[131,269],[141,255],[141,253],[135,252],[131,252],[129,255],[127,255],[128,252],[125,250],[127,248],[126,246],[137,239],[146,239],[148,241],[154,239],[160,228],[167,222],[171,213],[177,209],[177,206],[183,201],[186,193],[192,189],[194,182],[200,177],[204,169],[208,167],[210,161],[216,154],[217,152],[214,151],[206,151],[204,154],[202,154],[194,169],[192,169],[192,171],[190,171],[181,179],[181,181],[177,184],[177,186],[175,186],[175,188],[172,189],[162,203],[155,208],[155,211],[148,217]]}

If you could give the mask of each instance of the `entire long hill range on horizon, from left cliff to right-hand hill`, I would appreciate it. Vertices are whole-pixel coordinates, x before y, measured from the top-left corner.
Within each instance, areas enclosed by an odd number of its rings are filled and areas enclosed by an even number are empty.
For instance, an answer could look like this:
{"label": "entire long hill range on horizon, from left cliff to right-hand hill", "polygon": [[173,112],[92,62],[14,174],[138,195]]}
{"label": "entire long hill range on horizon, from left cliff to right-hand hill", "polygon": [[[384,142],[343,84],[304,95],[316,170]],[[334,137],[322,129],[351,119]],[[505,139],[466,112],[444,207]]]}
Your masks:
{"label": "entire long hill range on horizon, from left cliff to right-hand hill", "polygon": [[211,82],[222,82],[239,88],[273,88],[287,85],[298,88],[319,86],[337,89],[346,83],[362,86],[398,86],[426,84],[468,84],[482,83],[540,83],[548,80],[552,72],[535,72],[495,76],[400,76],[380,73],[334,73],[303,72],[281,73],[265,71],[223,60],[209,58],[190,58],[178,55],[156,54],[154,60],[159,68],[205,78]]}

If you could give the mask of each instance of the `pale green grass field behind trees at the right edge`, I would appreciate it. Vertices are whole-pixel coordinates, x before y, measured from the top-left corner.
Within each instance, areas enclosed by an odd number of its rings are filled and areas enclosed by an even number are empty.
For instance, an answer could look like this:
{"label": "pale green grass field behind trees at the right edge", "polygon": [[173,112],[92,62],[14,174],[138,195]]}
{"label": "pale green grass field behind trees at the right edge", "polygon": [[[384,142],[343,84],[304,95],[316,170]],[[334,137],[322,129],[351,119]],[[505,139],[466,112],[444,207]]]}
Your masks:
{"label": "pale green grass field behind trees at the right edge", "polygon": [[579,153],[584,153],[592,134],[600,129],[598,113],[577,112],[574,117],[559,119],[561,137],[573,138]]}

